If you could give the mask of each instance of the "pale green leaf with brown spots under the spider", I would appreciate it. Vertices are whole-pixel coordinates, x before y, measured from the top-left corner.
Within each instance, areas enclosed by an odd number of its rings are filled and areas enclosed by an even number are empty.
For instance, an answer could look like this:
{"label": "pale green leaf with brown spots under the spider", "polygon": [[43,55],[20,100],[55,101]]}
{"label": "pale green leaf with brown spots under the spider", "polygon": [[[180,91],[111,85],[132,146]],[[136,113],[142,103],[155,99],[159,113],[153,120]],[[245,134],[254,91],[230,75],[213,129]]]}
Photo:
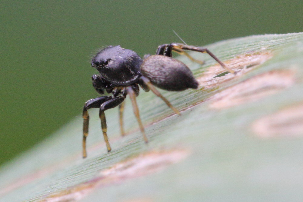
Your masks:
{"label": "pale green leaf with brown spots under the spider", "polygon": [[177,57],[197,90],[161,91],[178,109],[142,93],[137,102],[149,143],[126,101],[121,137],[118,109],[105,112],[106,152],[98,110],[90,110],[88,158],[82,118],[1,167],[1,201],[300,200],[303,197],[303,33],[256,35],[207,48],[204,65]]}

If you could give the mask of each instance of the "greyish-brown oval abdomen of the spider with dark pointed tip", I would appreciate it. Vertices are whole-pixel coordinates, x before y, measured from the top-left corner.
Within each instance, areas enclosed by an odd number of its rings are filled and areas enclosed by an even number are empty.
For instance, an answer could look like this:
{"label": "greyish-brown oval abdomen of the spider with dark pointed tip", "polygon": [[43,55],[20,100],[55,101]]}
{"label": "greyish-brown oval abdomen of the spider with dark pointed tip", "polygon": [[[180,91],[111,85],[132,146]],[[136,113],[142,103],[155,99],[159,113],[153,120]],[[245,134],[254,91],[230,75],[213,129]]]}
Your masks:
{"label": "greyish-brown oval abdomen of the spider with dark pointed tip", "polygon": [[141,65],[141,73],[152,84],[167,91],[198,88],[198,81],[181,61],[163,55],[151,55]]}

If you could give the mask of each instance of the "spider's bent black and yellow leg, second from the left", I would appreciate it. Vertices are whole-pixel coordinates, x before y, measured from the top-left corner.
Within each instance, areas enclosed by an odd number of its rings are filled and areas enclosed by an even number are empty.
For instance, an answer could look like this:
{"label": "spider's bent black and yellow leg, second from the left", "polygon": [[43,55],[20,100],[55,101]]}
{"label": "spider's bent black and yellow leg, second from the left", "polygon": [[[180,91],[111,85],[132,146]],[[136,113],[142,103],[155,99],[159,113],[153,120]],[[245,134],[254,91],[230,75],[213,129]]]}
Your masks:
{"label": "spider's bent black and yellow leg, second from the left", "polygon": [[110,152],[112,150],[112,148],[109,145],[108,136],[106,134],[106,132],[107,132],[107,126],[106,126],[106,118],[105,118],[104,111],[107,110],[107,109],[111,109],[111,108],[117,107],[119,104],[121,104],[124,101],[124,99],[125,98],[123,98],[123,97],[111,98],[110,100],[104,102],[100,106],[99,117],[100,117],[100,120],[101,120],[102,133],[103,133],[104,141],[105,141],[105,144],[106,144],[108,152]]}

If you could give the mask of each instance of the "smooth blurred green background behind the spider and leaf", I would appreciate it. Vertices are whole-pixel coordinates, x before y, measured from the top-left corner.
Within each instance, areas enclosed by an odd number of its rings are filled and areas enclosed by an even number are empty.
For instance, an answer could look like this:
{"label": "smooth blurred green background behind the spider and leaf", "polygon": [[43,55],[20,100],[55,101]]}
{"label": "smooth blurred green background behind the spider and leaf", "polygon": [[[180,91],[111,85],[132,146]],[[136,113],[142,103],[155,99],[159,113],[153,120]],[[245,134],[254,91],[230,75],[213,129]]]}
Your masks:
{"label": "smooth blurred green background behind the spider and leaf", "polygon": [[81,117],[84,102],[98,96],[89,62],[98,48],[153,54],[181,42],[172,30],[199,46],[303,31],[302,0],[1,1],[0,9],[1,164]]}

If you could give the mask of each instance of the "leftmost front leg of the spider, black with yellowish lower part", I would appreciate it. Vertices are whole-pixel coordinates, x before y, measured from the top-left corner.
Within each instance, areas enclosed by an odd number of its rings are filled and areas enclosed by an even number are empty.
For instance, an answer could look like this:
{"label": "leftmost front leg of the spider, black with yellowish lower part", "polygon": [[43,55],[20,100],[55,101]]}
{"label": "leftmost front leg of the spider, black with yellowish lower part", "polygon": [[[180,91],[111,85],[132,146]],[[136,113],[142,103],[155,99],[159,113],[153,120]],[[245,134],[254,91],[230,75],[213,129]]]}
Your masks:
{"label": "leftmost front leg of the spider, black with yellowish lower part", "polygon": [[89,123],[88,109],[99,108],[102,103],[110,100],[111,98],[112,97],[102,96],[102,97],[88,100],[84,104],[83,112],[82,112],[82,117],[83,117],[83,141],[82,141],[83,158],[85,158],[87,156],[87,154],[86,154],[86,137],[88,136],[88,123]]}

